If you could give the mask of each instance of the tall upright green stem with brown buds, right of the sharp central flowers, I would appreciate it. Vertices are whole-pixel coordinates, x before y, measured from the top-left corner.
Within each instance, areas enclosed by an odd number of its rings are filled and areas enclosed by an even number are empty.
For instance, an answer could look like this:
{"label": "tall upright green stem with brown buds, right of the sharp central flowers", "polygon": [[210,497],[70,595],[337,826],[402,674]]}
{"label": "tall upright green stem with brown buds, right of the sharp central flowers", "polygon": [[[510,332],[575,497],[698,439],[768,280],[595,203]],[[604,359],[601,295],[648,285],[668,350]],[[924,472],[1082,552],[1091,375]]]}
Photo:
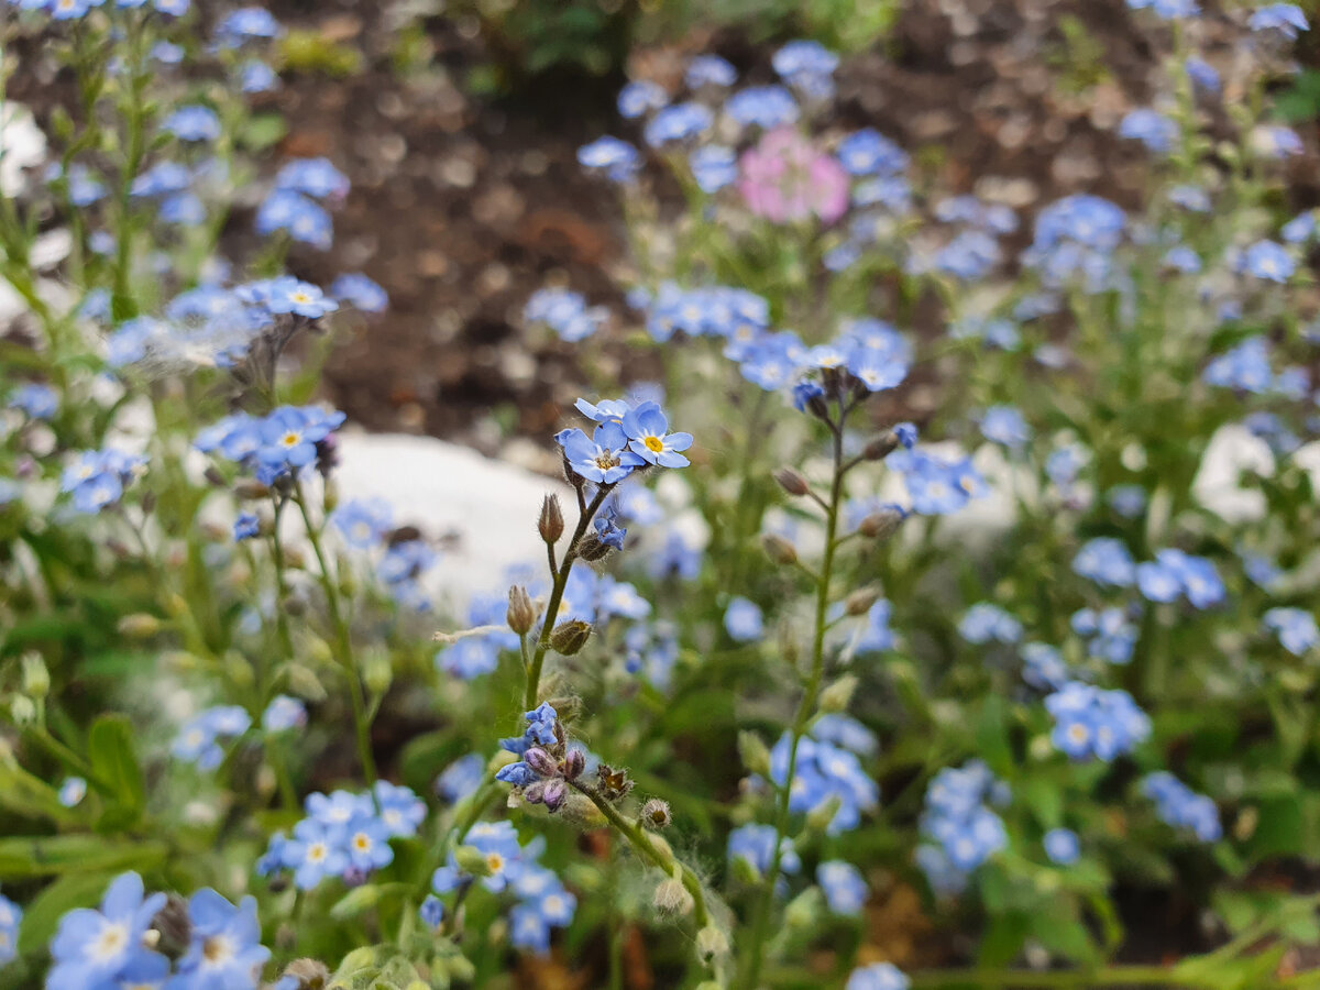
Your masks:
{"label": "tall upright green stem with brown buds, right of the sharp central flowers", "polygon": [[838,548],[836,533],[838,531],[838,508],[843,494],[843,418],[845,411],[840,404],[837,424],[830,424],[833,433],[833,480],[830,482],[829,507],[825,513],[825,553],[821,557],[820,578],[816,582],[816,631],[812,639],[812,672],[807,681],[807,690],[797,705],[797,714],[788,743],[788,772],[779,788],[779,804],[775,809],[775,845],[770,858],[770,869],[766,871],[766,887],[756,902],[756,912],[752,919],[751,939],[747,945],[747,965],[739,986],[744,990],[755,990],[760,981],[760,968],[766,953],[766,936],[770,925],[770,912],[775,902],[775,880],[779,878],[780,861],[783,859],[784,836],[788,832],[788,805],[792,797],[793,775],[797,771],[797,748],[807,734],[807,726],[816,711],[820,698],[821,681],[825,675],[825,628],[828,626],[826,612],[829,611],[829,585],[830,574],[834,569],[834,550]]}

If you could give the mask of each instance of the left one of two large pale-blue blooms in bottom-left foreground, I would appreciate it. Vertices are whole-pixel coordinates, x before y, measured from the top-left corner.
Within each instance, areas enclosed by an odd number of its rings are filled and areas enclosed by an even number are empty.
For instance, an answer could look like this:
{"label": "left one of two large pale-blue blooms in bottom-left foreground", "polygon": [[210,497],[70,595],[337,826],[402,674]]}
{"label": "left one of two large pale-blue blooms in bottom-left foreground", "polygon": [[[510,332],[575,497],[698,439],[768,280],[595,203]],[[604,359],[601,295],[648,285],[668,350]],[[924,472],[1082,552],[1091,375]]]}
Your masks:
{"label": "left one of two large pale-blue blooms in bottom-left foreground", "polygon": [[154,983],[169,973],[169,960],[147,948],[147,929],[165,907],[164,894],[144,896],[143,878],[120,874],[100,909],[77,908],[59,919],[50,942],[54,966],[48,990],[90,990],[123,983]]}

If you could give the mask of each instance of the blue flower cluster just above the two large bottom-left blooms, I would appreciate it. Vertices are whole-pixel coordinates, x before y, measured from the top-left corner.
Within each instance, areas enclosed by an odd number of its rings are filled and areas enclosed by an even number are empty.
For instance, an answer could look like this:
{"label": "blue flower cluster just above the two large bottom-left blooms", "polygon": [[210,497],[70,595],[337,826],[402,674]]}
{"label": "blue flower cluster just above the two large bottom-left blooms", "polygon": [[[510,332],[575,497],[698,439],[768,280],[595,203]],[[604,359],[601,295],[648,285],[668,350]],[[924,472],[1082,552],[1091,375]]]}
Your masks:
{"label": "blue flower cluster just above the two large bottom-left blooms", "polygon": [[426,805],[407,787],[378,780],[371,792],[313,792],[304,801],[306,817],[293,834],[277,832],[257,862],[257,873],[293,871],[298,890],[312,890],[326,876],[362,883],[393,862],[391,838],[417,834]]}

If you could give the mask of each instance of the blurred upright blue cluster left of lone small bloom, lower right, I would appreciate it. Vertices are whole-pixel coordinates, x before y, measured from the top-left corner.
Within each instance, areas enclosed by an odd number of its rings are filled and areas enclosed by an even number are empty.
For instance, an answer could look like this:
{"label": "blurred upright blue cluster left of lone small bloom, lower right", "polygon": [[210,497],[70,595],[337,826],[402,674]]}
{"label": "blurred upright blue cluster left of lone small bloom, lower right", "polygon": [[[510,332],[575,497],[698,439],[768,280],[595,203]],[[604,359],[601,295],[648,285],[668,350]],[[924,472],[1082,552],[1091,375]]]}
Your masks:
{"label": "blurred upright blue cluster left of lone small bloom, lower right", "polygon": [[916,863],[936,894],[961,891],[981,863],[1008,843],[1001,818],[986,801],[1005,804],[1007,785],[981,760],[945,767],[925,789]]}

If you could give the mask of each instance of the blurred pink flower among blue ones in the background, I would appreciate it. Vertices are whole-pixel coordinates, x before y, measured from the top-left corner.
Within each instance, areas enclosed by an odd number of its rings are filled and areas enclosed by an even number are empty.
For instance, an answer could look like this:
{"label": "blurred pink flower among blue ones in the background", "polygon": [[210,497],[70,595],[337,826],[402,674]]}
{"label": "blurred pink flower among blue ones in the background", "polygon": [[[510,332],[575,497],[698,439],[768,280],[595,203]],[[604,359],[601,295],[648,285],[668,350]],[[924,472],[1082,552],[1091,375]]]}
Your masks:
{"label": "blurred pink flower among blue ones in the background", "polygon": [[775,223],[813,214],[833,223],[847,209],[847,173],[791,127],[767,132],[739,161],[747,209]]}

